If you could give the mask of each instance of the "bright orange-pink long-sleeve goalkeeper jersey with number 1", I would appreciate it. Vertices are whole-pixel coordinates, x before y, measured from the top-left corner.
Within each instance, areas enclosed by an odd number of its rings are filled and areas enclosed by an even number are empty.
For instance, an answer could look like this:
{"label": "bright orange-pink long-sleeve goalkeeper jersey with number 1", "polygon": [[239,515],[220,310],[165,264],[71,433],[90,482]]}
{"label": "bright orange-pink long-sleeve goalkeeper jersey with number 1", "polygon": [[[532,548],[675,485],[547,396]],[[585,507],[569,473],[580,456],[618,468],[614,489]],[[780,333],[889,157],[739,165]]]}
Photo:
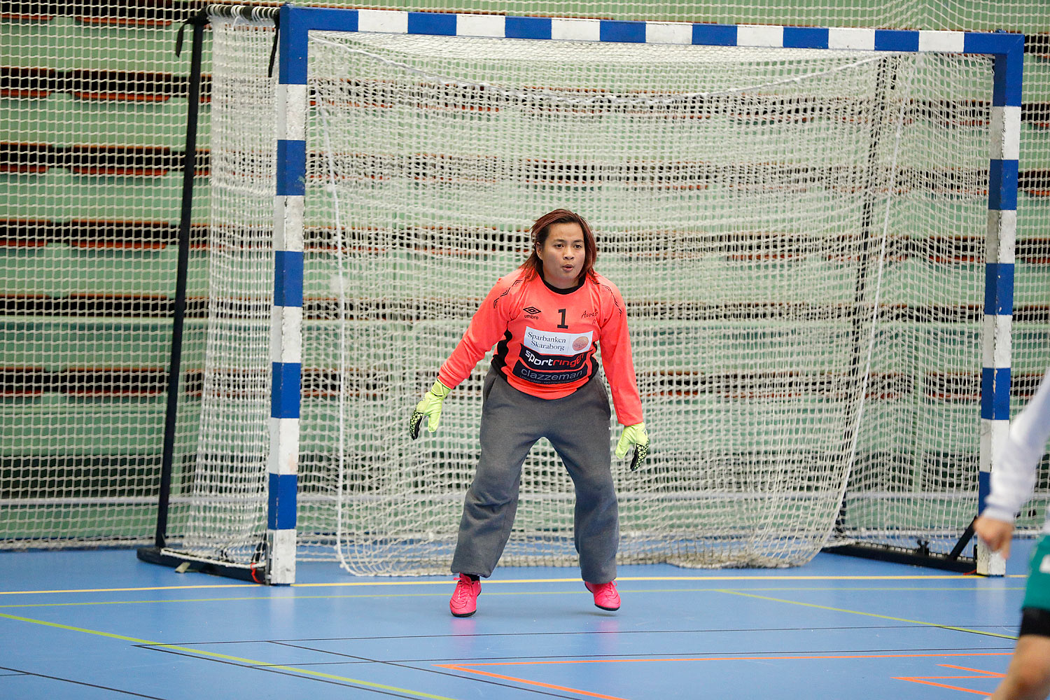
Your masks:
{"label": "bright orange-pink long-sleeve goalkeeper jersey with number 1", "polygon": [[516,389],[541,399],[560,399],[586,384],[596,369],[594,352],[601,345],[616,420],[623,425],[642,422],[624,298],[605,277],[587,277],[568,290],[554,289],[522,269],[501,277],[438,379],[455,387],[492,345],[492,366]]}

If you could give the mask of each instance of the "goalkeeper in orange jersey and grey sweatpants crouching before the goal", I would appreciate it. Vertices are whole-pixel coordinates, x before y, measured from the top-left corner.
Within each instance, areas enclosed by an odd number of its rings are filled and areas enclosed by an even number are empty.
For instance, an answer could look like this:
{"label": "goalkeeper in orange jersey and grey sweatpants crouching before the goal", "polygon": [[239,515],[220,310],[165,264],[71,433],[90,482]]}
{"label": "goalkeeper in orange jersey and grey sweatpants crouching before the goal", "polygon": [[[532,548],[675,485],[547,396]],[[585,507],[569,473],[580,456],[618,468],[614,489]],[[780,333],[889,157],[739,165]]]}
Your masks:
{"label": "goalkeeper in orange jersey and grey sweatpants crouching before the goal", "polygon": [[554,447],[575,486],[574,540],[584,585],[598,608],[620,608],[609,394],[594,352],[601,345],[616,419],[625,426],[616,457],[633,447],[631,469],[636,469],[649,437],[627,312],[616,287],[593,270],[597,249],[582,216],[565,209],[549,212],[532,225],[531,238],[528,259],[496,282],[410,421],[414,439],[424,419],[434,432],[442,400],[496,345],[482,389],[481,455],[452,563],[458,579],[449,609],[457,617],[475,613],[479,578],[489,576],[503,554],[518,509],[522,464],[540,438]]}

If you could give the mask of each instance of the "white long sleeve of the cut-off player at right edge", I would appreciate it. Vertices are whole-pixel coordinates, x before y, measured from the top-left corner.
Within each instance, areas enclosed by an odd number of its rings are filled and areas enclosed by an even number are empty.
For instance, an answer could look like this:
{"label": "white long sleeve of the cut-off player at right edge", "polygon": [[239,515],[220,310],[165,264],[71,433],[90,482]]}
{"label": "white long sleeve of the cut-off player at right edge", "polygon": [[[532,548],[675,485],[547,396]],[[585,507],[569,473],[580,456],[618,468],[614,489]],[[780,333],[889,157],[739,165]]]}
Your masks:
{"label": "white long sleeve of the cut-off player at right edge", "polygon": [[[1003,454],[992,462],[991,493],[984,515],[1013,523],[1021,507],[1035,490],[1035,470],[1050,438],[1050,369],[1043,376],[1035,396],[1010,424]],[[1050,512],[1043,524],[1050,533]]]}

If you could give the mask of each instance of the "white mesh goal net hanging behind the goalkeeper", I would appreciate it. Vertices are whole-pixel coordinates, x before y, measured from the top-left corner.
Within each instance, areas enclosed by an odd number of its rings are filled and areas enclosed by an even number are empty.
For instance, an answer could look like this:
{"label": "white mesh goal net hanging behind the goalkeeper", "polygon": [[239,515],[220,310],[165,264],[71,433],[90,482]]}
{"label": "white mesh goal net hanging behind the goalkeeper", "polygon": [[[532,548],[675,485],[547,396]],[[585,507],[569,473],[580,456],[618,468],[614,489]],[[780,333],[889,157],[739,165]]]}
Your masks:
{"label": "white mesh goal net hanging behind the goalkeeper", "polygon": [[[266,530],[272,25],[214,18],[194,552]],[[653,449],[623,564],[950,549],[976,511],[992,70],[981,57],[365,33],[310,41],[298,555],[444,573],[483,362],[407,420],[528,227],[565,207],[623,291]],[[618,429],[613,430],[614,437]],[[502,563],[571,565],[541,441]]]}

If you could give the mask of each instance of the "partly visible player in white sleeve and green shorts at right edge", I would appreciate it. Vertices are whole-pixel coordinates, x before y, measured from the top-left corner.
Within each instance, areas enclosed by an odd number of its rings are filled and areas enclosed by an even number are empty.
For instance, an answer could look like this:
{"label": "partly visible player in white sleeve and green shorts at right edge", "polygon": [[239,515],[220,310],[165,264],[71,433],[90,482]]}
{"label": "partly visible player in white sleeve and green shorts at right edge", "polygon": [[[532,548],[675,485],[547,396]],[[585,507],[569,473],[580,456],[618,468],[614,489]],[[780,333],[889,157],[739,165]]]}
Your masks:
{"label": "partly visible player in white sleeve and green shorts at right edge", "polygon": [[[1003,459],[991,471],[991,493],[973,525],[993,552],[1010,554],[1013,521],[1035,489],[1035,470],[1050,437],[1050,370],[1010,425]],[[1043,700],[1050,694],[1050,513],[1029,564],[1017,645],[994,700]]]}

